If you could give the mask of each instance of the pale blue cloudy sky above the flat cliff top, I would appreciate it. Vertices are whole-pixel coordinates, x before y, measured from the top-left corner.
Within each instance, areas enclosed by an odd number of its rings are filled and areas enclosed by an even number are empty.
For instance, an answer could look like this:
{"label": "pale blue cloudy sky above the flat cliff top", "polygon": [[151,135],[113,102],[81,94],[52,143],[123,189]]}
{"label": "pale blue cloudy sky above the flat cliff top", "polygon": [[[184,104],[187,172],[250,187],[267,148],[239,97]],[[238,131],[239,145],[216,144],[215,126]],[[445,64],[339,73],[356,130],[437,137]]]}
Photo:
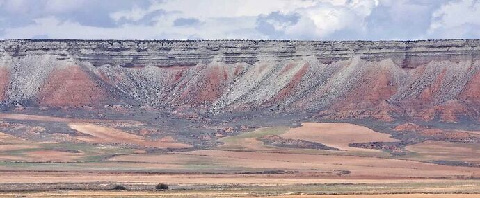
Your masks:
{"label": "pale blue cloudy sky above the flat cliff top", "polygon": [[480,39],[480,0],[0,0],[0,39]]}

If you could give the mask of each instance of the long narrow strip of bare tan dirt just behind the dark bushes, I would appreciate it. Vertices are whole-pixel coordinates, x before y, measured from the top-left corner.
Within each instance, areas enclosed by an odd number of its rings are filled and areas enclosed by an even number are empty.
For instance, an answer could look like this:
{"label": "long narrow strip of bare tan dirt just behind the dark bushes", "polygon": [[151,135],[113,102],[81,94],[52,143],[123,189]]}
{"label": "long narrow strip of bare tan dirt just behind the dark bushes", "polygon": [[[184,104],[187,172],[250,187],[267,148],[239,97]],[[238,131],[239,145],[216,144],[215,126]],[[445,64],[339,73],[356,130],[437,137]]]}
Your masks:
{"label": "long narrow strip of bare tan dirt just behind the dark bushes", "polygon": [[318,177],[315,174],[154,174],[114,172],[17,172],[2,171],[1,183],[159,183],[168,182],[178,186],[194,185],[295,185],[315,183],[475,183],[479,180],[415,179],[385,177]]}

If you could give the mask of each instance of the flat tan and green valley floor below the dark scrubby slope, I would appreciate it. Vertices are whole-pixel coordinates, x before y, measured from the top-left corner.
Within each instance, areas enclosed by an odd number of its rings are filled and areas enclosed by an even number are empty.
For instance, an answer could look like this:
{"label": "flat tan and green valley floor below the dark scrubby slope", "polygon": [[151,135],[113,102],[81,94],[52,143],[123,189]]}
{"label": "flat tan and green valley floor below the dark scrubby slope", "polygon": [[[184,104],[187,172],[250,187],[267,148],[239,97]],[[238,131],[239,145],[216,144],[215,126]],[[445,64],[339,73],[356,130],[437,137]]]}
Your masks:
{"label": "flat tan and green valley floor below the dark scrubby slope", "polygon": [[[461,197],[467,197],[465,194],[480,192],[478,144],[424,141],[403,148],[408,154],[392,154],[391,150],[349,146],[399,141],[390,134],[349,123],[262,127],[219,138],[214,147],[193,148],[175,138],[147,140],[147,132],[136,135],[136,129],[141,133],[148,124],[132,120],[31,114],[0,117],[3,129],[38,134],[45,133],[39,126],[55,125],[75,132],[74,136],[52,134],[58,136],[58,142],[29,141],[27,137],[2,133],[0,197],[309,197],[385,193],[421,194],[408,197],[461,193]],[[33,127],[33,123],[38,126]],[[128,128],[133,130],[127,132]],[[275,146],[267,144],[265,137],[305,143]],[[64,143],[64,139],[70,143]],[[315,143],[338,150],[318,149]],[[441,165],[435,161],[462,163]],[[154,186],[161,182],[168,183],[170,190],[155,191]],[[110,190],[119,184],[129,190]]]}

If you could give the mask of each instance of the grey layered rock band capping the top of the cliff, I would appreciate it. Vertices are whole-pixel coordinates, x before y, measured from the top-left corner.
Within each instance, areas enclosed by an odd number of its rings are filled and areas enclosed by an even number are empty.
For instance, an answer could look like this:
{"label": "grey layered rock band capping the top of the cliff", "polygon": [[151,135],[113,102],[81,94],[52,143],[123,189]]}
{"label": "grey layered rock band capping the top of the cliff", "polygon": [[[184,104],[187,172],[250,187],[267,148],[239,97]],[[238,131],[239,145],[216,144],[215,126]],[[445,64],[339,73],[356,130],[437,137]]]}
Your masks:
{"label": "grey layered rock band capping the top of the cliff", "polygon": [[95,66],[195,66],[218,61],[225,64],[262,60],[296,60],[314,56],[323,63],[348,60],[390,59],[401,67],[415,67],[431,60],[465,60],[480,57],[479,40],[427,40],[378,42],[303,41],[84,41],[8,40],[0,51],[13,56],[74,55]]}

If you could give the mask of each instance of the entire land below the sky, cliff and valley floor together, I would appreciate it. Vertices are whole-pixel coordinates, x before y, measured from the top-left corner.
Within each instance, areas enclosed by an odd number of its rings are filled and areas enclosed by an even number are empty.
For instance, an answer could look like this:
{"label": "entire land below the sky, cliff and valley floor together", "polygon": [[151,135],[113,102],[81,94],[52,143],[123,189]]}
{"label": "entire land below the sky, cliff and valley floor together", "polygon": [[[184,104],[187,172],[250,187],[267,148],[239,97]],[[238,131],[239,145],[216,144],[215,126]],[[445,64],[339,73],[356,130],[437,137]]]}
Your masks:
{"label": "entire land below the sky, cliff and valley floor together", "polygon": [[477,40],[2,41],[0,197],[479,197],[479,57]]}

